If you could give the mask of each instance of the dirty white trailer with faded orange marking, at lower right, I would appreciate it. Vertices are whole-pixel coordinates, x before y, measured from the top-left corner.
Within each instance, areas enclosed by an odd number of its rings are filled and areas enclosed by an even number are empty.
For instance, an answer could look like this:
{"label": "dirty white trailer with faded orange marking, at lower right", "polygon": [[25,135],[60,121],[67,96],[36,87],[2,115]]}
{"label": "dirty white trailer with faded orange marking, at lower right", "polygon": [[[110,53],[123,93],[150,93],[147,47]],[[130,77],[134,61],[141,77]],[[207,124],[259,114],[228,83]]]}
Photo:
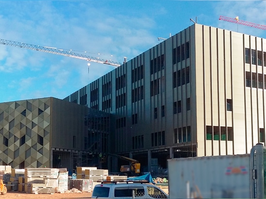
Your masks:
{"label": "dirty white trailer with faded orange marking, at lower right", "polygon": [[257,144],[250,154],[169,159],[169,199],[265,198],[264,151]]}

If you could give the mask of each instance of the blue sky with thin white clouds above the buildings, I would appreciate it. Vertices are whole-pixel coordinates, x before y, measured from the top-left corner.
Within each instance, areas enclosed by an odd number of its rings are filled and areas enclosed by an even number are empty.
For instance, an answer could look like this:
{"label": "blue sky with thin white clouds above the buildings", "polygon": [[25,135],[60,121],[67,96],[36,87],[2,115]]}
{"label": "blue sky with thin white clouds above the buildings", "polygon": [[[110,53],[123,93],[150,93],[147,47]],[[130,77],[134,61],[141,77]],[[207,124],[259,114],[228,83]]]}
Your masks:
{"label": "blue sky with thin white clouds above the buildings", "polygon": [[[266,1],[0,0],[0,39],[51,46],[123,62],[197,23],[266,38]],[[85,53],[85,51],[87,53]],[[100,55],[99,55],[100,54]],[[0,44],[0,102],[63,99],[115,67]]]}

